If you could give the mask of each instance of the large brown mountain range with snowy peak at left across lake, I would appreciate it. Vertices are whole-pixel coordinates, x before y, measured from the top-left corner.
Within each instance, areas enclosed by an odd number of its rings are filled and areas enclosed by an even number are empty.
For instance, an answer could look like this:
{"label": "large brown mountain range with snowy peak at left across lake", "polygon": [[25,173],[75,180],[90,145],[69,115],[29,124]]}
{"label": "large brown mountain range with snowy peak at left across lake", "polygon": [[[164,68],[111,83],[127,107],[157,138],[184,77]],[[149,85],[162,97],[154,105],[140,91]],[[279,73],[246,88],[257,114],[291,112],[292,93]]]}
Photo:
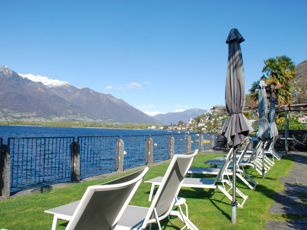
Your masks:
{"label": "large brown mountain range with snowy peak at left across lake", "polygon": [[0,120],[162,123],[111,94],[0,66]]}

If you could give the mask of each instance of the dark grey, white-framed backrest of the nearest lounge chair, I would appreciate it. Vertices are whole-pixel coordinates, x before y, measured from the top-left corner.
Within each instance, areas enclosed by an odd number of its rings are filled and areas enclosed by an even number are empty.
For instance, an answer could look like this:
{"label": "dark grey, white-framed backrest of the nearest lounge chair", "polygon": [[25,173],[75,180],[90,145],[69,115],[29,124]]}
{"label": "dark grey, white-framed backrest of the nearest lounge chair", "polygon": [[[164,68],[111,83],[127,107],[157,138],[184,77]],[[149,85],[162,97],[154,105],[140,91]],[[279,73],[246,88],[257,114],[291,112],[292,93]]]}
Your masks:
{"label": "dark grey, white-framed backrest of the nearest lounge chair", "polygon": [[148,167],[85,191],[66,230],[115,228]]}

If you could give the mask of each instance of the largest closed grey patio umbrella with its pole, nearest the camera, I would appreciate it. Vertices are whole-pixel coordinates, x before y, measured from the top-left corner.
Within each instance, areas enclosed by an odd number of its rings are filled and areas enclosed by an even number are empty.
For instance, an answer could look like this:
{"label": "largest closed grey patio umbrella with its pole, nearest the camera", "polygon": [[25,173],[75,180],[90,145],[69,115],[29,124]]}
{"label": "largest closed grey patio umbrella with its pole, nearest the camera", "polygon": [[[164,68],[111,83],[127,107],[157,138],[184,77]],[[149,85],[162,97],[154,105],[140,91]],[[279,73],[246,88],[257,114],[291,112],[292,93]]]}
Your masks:
{"label": "largest closed grey patio umbrella with its pole, nearest the camera", "polygon": [[[229,148],[234,148],[233,166],[236,165],[236,148],[242,145],[247,139],[247,136],[254,131],[251,124],[242,113],[245,104],[245,79],[240,43],[244,40],[245,39],[237,29],[231,29],[226,40],[228,44],[228,64],[225,104],[229,115],[225,121],[221,134],[227,138],[227,146]],[[232,180],[231,223],[235,224],[237,206],[235,199],[236,167],[233,167]]]}

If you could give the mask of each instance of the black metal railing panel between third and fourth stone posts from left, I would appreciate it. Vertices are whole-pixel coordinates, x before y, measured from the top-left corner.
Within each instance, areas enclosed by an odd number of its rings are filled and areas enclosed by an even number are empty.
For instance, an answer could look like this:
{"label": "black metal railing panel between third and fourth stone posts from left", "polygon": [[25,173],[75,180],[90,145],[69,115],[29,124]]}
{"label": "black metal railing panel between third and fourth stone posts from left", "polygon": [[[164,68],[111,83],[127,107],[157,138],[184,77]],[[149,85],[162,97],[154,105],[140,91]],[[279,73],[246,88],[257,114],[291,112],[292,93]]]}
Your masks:
{"label": "black metal railing panel between third and fourth stone posts from left", "polygon": [[146,139],[150,135],[121,136],[124,142],[124,168],[146,164]]}

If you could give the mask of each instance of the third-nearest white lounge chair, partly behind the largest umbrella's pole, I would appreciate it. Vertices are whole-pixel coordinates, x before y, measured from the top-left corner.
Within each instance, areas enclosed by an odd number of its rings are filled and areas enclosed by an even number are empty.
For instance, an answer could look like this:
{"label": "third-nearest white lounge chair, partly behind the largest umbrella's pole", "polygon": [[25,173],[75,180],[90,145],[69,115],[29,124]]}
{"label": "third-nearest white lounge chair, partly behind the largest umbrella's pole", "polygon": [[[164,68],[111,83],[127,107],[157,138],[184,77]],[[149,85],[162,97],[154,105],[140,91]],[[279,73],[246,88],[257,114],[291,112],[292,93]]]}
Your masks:
{"label": "third-nearest white lounge chair, partly behind the largest umbrella's pole", "polygon": [[[232,151],[232,149],[230,150]],[[217,176],[215,179],[202,179],[202,178],[185,178],[182,183],[182,187],[191,187],[191,188],[210,188],[210,189],[219,189],[223,194],[225,194],[231,201],[232,201],[232,196],[228,193],[229,190],[232,188],[232,184],[229,180],[224,179],[224,175],[226,174],[227,167],[230,163],[230,156],[231,154],[227,155],[226,160],[223,161],[223,165],[220,168],[220,171],[218,172]],[[145,181],[146,183],[152,183],[151,190],[150,190],[150,199],[151,196],[153,195],[153,190],[155,186],[160,186],[162,183],[162,177],[156,177],[150,180]],[[222,183],[221,185],[217,185],[218,183]],[[230,186],[230,189],[226,190],[225,188],[225,183]],[[160,189],[159,187],[159,189]],[[239,194],[242,198],[242,204],[239,204],[239,208],[242,208],[244,202],[248,198],[245,196],[238,188],[236,188],[236,193]],[[157,196],[157,195],[156,195]],[[155,196],[155,198],[156,198]]]}

